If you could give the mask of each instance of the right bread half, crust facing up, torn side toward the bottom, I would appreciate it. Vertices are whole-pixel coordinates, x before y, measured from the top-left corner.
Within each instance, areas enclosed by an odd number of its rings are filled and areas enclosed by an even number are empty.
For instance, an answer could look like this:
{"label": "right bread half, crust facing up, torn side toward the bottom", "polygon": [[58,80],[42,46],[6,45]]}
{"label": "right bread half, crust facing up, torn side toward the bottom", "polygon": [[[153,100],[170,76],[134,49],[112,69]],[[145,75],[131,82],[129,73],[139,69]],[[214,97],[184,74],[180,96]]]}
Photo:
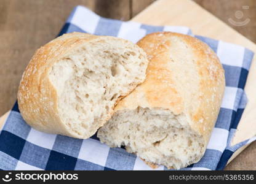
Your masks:
{"label": "right bread half, crust facing up, torn side toward the bottom", "polygon": [[153,33],[138,45],[150,61],[146,80],[118,103],[97,136],[151,166],[198,162],[220,110],[222,64],[208,45],[183,34]]}

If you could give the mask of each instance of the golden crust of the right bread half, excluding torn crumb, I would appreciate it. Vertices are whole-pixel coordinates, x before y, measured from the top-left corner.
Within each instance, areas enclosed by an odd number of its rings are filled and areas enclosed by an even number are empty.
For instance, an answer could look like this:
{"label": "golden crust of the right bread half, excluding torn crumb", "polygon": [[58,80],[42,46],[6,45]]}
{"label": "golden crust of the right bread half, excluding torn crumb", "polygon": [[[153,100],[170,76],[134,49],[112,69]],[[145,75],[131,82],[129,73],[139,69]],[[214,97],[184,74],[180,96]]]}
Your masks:
{"label": "golden crust of the right bread half, excluding torn crumb", "polygon": [[150,61],[146,80],[122,99],[115,111],[140,106],[183,113],[206,148],[225,89],[217,55],[200,40],[178,33],[148,34],[137,44]]}

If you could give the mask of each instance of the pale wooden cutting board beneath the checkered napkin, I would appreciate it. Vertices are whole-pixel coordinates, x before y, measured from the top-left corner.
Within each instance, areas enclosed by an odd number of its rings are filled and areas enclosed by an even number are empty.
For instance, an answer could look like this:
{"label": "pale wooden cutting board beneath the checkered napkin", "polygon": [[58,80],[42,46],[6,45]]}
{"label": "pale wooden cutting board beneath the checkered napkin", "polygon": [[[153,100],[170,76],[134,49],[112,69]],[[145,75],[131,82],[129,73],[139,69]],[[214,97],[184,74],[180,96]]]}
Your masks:
{"label": "pale wooden cutting board beneath the checkered napkin", "polygon": [[[256,53],[256,45],[253,42],[246,39],[246,37],[242,36],[221,20],[218,20],[214,15],[190,0],[158,0],[134,17],[132,21],[159,26],[188,26],[192,29],[194,34],[239,44]],[[233,145],[256,135],[256,126],[254,123],[254,120],[256,119],[255,60],[256,58],[254,57],[245,88],[249,102],[242,115],[238,131],[234,136],[232,142]],[[0,118],[0,129],[8,115],[9,112]],[[246,148],[246,146],[237,150],[228,163],[241,153],[244,148]]]}

